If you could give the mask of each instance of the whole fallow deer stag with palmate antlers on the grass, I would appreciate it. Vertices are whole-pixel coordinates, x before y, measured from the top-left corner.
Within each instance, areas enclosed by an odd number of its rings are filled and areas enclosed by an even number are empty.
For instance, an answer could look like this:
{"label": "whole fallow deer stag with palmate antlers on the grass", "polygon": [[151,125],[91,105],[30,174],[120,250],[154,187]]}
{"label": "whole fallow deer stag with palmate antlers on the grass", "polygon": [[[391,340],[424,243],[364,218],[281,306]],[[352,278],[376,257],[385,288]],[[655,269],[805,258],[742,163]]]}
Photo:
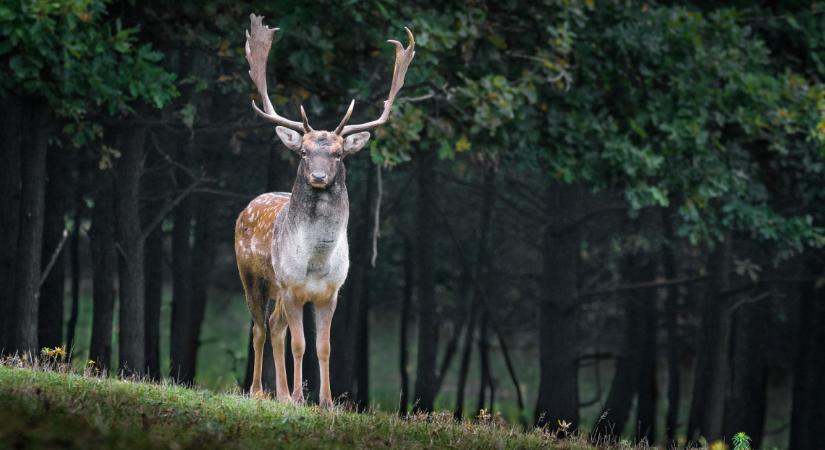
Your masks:
{"label": "whole fallow deer stag with palmate antlers on the grass", "polygon": [[262,395],[261,366],[266,333],[266,302],[275,301],[269,316],[269,333],[275,359],[278,400],[289,400],[284,361],[286,329],[292,336],[294,358],[292,400],[303,401],[301,361],[305,340],[303,306],[315,306],[318,362],[321,372],[320,403],[332,406],[329,387],[330,325],[338,299],[338,289],[349,269],[347,221],[349,198],[343,159],[367,143],[368,130],[387,122],[392,104],[404,84],[407,67],[415,55],[415,39],[407,29],[409,45],[395,46],[392,84],[381,116],[359,125],[347,125],[353,100],[335,131],[316,131],[309,125],[303,106],[301,122],[286,119],[272,106],[266,90],[266,62],[277,28],[263,25],[263,17],[250,15],[246,32],[246,59],[249,75],[263,104],[252,108],[277,125],[281,142],[301,156],[291,193],[272,192],[256,197],[235,223],[235,256],[246,303],[252,313],[252,346],[255,350],[253,396]]}

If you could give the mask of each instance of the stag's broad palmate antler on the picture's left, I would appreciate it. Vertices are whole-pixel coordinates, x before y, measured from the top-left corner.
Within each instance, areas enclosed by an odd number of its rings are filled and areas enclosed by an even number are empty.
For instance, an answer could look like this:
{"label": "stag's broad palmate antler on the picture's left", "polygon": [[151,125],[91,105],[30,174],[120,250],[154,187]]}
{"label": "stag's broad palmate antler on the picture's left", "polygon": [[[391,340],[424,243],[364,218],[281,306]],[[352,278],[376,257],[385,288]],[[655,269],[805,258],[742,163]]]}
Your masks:
{"label": "stag's broad palmate antler on the picture's left", "polygon": [[252,101],[252,108],[259,116],[276,124],[291,128],[295,131],[307,131],[309,122],[306,127],[301,122],[289,120],[278,115],[275,108],[272,106],[272,101],[269,99],[269,94],[266,91],[266,61],[269,59],[269,49],[272,47],[272,38],[278,28],[269,28],[263,24],[263,16],[249,15],[250,26],[246,30],[246,61],[249,63],[249,77],[258,89],[258,94],[261,96],[261,103],[263,104],[263,111],[258,108],[255,101]]}

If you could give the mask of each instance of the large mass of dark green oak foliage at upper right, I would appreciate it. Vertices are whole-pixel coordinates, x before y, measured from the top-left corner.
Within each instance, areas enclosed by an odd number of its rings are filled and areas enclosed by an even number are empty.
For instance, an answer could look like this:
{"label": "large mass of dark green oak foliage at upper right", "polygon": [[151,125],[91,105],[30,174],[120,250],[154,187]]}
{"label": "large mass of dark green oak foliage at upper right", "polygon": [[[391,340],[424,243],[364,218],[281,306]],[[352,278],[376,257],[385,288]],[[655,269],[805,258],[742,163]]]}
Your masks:
{"label": "large mass of dark green oak foliage at upper right", "polygon": [[738,11],[608,3],[576,33],[572,89],[536,155],[551,173],[619,187],[634,210],[674,203],[694,244],[732,230],[823,245],[808,209],[777,205],[822,191],[825,91],[775,67]]}

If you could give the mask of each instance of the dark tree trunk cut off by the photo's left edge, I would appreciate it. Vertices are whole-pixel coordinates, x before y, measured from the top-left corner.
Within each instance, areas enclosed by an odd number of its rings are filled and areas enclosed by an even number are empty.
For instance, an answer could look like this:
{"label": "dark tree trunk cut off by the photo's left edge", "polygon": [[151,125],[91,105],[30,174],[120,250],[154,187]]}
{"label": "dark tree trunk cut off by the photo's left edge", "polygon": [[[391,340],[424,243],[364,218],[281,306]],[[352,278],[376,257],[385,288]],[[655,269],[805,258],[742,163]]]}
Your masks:
{"label": "dark tree trunk cut off by the photo's left edge", "polygon": [[20,219],[21,102],[0,98],[0,355],[13,351],[15,274]]}

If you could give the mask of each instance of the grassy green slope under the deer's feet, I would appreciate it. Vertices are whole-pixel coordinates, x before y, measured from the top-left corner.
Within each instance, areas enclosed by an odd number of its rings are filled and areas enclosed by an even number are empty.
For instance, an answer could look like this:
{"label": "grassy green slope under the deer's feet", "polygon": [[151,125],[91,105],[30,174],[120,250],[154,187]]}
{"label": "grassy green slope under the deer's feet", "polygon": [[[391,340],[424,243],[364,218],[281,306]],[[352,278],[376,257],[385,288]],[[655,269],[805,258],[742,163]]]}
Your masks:
{"label": "grassy green slope under the deer's feet", "polygon": [[0,448],[589,448],[495,420],[285,405],[241,394],[0,365]]}

